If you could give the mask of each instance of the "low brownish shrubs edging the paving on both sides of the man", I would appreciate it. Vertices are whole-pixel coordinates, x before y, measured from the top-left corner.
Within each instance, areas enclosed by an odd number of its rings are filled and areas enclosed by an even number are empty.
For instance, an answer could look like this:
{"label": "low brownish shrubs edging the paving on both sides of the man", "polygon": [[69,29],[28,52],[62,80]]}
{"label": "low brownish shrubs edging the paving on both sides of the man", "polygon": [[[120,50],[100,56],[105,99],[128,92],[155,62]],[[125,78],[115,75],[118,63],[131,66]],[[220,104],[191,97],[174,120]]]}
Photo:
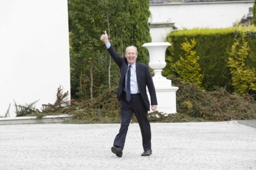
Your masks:
{"label": "low brownish shrubs edging the paving on both sides of the man", "polygon": [[[230,94],[225,88],[204,91],[193,83],[182,82],[181,79],[176,78],[171,80],[173,86],[179,87],[176,92],[177,113],[151,112],[148,114],[150,122],[256,119],[256,102],[248,94],[245,96],[239,96],[236,93]],[[71,114],[72,119],[69,123],[120,123],[120,102],[116,95],[117,87],[111,89],[102,87],[99,95],[93,100],[76,101],[72,99],[69,108],[58,107],[58,110],[52,110],[51,113],[46,114]],[[135,115],[131,122],[137,122]]]}

